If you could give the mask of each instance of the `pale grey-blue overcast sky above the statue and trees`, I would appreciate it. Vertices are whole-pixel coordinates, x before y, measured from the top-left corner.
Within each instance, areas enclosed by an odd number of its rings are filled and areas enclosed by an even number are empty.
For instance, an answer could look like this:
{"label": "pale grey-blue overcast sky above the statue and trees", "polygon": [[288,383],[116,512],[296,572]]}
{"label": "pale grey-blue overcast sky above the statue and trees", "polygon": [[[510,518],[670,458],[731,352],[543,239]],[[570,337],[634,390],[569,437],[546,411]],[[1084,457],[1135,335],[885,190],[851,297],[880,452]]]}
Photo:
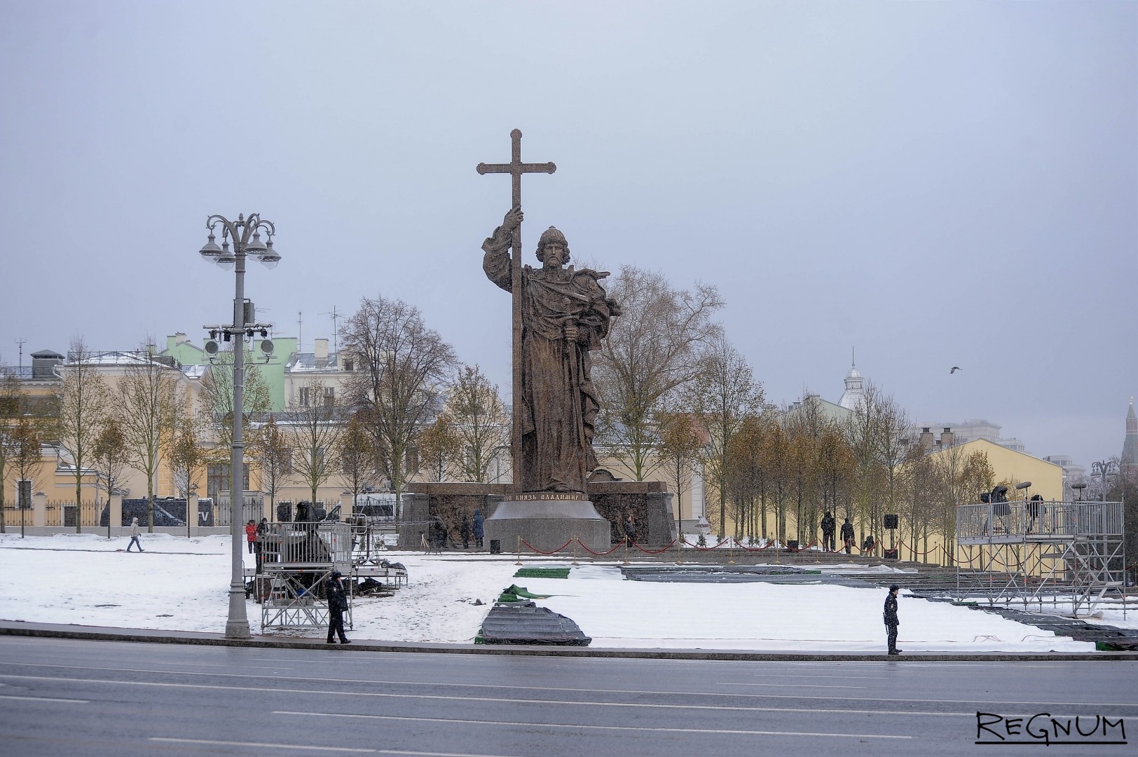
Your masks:
{"label": "pale grey-blue overcast sky above the statue and trees", "polygon": [[[1138,394],[1135,2],[0,0],[0,355],[228,320],[208,214],[283,261],[247,295],[307,349],[382,294],[509,389],[481,272],[522,181],[527,262],[715,283],[767,398],[857,367],[915,421],[1119,454]],[[950,376],[949,368],[963,371]]]}

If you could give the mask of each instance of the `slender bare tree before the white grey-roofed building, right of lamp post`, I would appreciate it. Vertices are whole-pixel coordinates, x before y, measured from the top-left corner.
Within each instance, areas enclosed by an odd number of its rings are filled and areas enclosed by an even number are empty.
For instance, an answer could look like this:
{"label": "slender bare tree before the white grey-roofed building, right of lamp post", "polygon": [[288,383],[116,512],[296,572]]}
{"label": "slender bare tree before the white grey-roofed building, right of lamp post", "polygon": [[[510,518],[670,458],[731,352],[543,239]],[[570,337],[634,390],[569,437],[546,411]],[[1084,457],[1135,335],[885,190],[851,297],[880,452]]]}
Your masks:
{"label": "slender bare tree before the white grey-roofed building, right of lamp post", "polygon": [[[292,470],[315,503],[316,489],[339,470],[337,455],[344,427],[339,404],[324,393],[323,381],[308,379],[303,388],[307,390],[289,405],[287,428],[294,451]],[[307,402],[303,401],[305,396]]]}

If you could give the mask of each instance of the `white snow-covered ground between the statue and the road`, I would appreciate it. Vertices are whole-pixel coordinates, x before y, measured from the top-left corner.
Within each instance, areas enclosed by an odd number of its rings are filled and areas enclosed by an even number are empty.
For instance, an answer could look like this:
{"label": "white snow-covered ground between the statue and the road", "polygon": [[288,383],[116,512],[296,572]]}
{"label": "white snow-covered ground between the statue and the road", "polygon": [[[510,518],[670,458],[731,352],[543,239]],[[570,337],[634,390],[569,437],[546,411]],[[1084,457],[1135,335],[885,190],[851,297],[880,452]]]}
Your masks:
{"label": "white snow-covered ground between the statue and the road", "polygon": [[[97,534],[0,535],[0,618],[39,623],[203,631],[224,630],[229,537]],[[251,567],[253,556],[245,553]],[[510,584],[551,594],[538,603],[572,618],[594,647],[880,652],[885,633],[880,589],[770,583],[625,581],[619,566],[582,565],[570,578],[514,578],[513,560],[484,554],[426,556],[390,551],[409,585],[389,598],[356,598],[358,640],[469,643],[498,593]],[[559,565],[543,561],[542,567]],[[568,562],[560,565],[568,566]],[[849,566],[846,571],[874,570]],[[876,571],[891,568],[877,567]],[[481,600],[483,604],[475,604]],[[1114,618],[1112,614],[1118,612]],[[254,633],[261,608],[249,601]],[[901,592],[899,644],[910,651],[1094,651],[993,614],[929,602]],[[1106,623],[1138,625],[1106,610]],[[289,635],[319,637],[322,631]]]}

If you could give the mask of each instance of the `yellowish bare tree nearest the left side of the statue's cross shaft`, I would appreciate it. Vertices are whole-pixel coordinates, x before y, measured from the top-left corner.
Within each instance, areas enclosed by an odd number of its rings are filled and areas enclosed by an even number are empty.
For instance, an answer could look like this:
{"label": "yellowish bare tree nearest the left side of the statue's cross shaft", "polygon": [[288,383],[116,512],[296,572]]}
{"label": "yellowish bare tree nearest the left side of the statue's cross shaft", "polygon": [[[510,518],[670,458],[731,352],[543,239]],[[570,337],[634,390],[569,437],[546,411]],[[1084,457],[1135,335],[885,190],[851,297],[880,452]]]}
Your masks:
{"label": "yellowish bare tree nearest the left side of the statue's cross shaft", "polygon": [[463,480],[486,483],[495,455],[510,444],[510,417],[497,386],[478,365],[463,365],[451,384],[444,412],[462,439]]}

